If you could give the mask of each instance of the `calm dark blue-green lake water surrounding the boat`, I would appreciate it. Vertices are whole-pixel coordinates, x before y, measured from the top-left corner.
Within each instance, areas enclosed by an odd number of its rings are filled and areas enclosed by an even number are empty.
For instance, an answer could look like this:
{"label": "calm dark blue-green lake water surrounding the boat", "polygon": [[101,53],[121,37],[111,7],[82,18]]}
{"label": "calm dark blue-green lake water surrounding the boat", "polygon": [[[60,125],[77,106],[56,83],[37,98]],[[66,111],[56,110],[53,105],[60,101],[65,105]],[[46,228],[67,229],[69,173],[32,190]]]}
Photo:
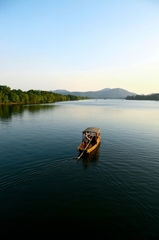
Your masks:
{"label": "calm dark blue-green lake water surrounding the boat", "polygon": [[[82,130],[101,129],[77,160]],[[159,238],[159,102],[0,106],[1,239]]]}

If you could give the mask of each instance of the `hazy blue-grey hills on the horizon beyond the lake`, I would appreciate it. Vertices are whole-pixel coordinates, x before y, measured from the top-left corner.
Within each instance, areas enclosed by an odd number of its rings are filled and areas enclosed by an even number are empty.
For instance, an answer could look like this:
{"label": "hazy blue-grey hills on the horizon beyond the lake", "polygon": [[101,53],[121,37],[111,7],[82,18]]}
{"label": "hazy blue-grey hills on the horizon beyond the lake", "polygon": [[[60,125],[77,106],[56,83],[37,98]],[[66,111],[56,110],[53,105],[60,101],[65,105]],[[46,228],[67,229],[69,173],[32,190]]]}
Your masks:
{"label": "hazy blue-grey hills on the horizon beyond the lake", "polygon": [[88,92],[69,92],[67,90],[55,90],[55,93],[60,93],[63,95],[75,95],[80,97],[90,97],[90,98],[109,98],[109,99],[121,99],[127,96],[135,96],[136,93],[129,92],[122,88],[104,88],[99,91],[88,91]]}

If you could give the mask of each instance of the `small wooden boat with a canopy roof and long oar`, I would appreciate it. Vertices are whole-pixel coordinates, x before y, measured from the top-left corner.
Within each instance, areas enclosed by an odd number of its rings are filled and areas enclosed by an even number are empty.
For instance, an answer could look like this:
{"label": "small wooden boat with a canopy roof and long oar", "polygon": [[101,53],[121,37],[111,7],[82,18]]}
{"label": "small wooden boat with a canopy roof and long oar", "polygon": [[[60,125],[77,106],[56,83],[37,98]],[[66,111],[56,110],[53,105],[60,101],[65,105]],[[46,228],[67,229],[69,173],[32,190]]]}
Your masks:
{"label": "small wooden boat with a canopy roof and long oar", "polygon": [[81,153],[78,159],[84,153],[91,153],[94,151],[100,143],[100,128],[88,127],[82,132],[82,142],[78,146],[77,150]]}

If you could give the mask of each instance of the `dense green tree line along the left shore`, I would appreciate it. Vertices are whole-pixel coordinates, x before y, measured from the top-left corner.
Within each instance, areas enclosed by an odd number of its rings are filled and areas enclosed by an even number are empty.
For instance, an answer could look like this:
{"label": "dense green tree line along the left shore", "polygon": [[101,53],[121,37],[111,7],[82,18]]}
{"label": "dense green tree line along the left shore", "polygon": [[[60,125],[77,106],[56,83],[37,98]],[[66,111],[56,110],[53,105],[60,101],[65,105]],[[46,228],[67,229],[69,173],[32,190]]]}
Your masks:
{"label": "dense green tree line along the left shore", "polygon": [[84,100],[88,97],[79,97],[74,95],[62,95],[50,91],[13,89],[0,85],[0,104],[35,104],[35,103],[53,103],[61,101]]}

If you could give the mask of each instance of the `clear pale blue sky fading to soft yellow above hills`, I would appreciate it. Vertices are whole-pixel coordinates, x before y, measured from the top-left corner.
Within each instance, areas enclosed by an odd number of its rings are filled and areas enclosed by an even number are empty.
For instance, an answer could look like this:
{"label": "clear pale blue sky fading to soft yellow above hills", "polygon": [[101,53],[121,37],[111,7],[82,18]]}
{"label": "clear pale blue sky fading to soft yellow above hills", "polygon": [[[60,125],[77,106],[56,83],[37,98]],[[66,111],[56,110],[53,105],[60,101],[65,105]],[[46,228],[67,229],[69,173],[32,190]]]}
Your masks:
{"label": "clear pale blue sky fading to soft yellow above hills", "polygon": [[0,85],[159,92],[159,1],[0,0]]}

